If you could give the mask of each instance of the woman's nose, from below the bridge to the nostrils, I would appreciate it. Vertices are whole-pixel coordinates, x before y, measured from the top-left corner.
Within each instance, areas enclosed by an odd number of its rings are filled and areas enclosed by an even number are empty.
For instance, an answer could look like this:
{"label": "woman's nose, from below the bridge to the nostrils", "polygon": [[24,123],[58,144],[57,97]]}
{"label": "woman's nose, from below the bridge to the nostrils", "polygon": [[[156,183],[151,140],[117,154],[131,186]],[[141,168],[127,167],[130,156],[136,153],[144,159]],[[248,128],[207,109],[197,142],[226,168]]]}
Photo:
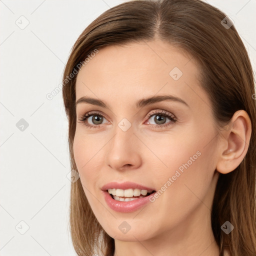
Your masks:
{"label": "woman's nose, from below the bridge to the nostrils", "polygon": [[138,168],[141,165],[140,143],[132,126],[126,131],[116,126],[106,148],[107,165],[115,170]]}

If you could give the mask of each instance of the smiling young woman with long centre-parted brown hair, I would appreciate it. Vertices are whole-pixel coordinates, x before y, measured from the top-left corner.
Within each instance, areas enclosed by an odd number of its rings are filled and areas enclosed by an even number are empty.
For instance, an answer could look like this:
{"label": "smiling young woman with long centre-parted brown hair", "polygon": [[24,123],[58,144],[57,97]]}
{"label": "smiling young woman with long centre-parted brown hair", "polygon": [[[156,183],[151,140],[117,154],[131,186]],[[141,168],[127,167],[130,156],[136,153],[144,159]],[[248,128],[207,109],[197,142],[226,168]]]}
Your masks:
{"label": "smiling young woman with long centre-parted brown hair", "polygon": [[63,75],[78,255],[256,255],[254,80],[223,12],[130,1]]}

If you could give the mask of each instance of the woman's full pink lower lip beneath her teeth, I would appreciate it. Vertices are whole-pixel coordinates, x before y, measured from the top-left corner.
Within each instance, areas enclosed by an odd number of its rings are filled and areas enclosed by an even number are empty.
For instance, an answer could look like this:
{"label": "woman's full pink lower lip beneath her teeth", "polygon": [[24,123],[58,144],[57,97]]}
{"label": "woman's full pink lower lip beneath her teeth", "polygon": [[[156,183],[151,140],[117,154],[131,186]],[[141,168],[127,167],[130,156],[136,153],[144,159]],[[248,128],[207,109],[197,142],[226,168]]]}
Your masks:
{"label": "woman's full pink lower lip beneath her teeth", "polygon": [[117,201],[117,200],[113,199],[112,196],[107,191],[102,191],[102,192],[104,193],[104,197],[105,197],[105,201],[106,201],[107,205],[111,209],[113,209],[115,211],[119,211],[119,212],[132,212],[132,211],[139,209],[144,204],[148,203],[150,196],[153,196],[155,193],[154,192],[145,197],[141,197],[141,198],[137,198],[132,201],[125,202],[125,201]]}

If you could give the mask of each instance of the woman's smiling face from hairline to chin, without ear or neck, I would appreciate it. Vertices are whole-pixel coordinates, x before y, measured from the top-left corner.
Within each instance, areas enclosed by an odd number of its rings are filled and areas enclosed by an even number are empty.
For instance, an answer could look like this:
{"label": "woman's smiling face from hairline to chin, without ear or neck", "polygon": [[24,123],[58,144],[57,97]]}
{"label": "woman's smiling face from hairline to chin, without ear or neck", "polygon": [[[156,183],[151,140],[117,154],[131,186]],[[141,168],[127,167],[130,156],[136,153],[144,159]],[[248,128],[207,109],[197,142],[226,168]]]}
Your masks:
{"label": "woman's smiling face from hairline to chin, without ear or neck", "polygon": [[[193,60],[160,40],[111,45],[77,74],[76,100],[95,100],[76,105],[75,163],[93,213],[114,239],[209,232],[217,131]],[[164,100],[144,100],[150,97]],[[105,191],[109,182],[120,184],[110,185],[118,197],[121,188],[128,198],[143,186],[156,192],[119,201]]]}

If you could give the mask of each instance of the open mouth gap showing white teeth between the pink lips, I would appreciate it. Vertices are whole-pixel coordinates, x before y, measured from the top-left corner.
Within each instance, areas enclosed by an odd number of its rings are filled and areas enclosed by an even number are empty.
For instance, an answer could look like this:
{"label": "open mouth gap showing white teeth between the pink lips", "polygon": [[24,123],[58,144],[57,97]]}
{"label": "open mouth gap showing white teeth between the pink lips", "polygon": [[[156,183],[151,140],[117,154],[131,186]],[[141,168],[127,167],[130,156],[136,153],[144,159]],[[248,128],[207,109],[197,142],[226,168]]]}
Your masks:
{"label": "open mouth gap showing white teeth between the pink lips", "polygon": [[155,190],[146,190],[139,188],[128,188],[128,189],[120,189],[120,188],[108,188],[107,191],[112,199],[116,201],[132,201],[138,198],[146,197],[154,192]]}

